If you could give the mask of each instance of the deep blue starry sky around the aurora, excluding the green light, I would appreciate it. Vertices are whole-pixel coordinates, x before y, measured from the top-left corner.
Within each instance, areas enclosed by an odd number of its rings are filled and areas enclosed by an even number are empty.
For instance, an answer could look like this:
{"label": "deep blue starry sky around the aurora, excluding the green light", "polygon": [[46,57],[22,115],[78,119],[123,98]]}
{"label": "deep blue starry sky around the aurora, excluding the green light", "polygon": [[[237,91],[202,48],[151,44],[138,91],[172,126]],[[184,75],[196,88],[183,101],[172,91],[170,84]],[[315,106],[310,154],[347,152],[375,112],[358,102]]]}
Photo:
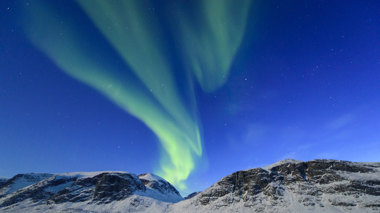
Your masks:
{"label": "deep blue starry sky around the aurora, excluding the green light", "polygon": [[[20,4],[0,3],[0,176],[153,173],[160,145],[152,130],[38,50]],[[112,49],[76,2],[63,4],[95,44]],[[253,1],[226,84],[204,92],[194,83],[204,159],[181,194],[286,158],[380,161],[379,50],[377,0]],[[112,50],[94,54],[120,60]]]}

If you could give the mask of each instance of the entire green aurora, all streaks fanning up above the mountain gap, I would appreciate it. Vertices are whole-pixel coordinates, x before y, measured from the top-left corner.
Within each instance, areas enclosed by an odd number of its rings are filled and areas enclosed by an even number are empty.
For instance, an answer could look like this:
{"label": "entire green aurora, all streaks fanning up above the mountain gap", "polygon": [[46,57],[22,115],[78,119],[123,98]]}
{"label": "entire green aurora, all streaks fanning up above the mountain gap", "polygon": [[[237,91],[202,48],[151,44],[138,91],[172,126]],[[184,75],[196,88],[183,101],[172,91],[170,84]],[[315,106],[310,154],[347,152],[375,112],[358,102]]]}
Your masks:
{"label": "entire green aurora, all streaks fanning up above the mountain gap", "polygon": [[[190,16],[173,17],[183,21],[176,29],[183,35],[176,38],[176,49],[165,46],[166,38],[161,33],[165,23],[159,22],[154,13],[147,13],[151,5],[147,1],[78,3],[134,74],[120,72],[110,61],[101,60],[102,55],[94,54],[101,53],[101,47],[91,42],[91,35],[86,35],[75,20],[45,5],[46,1],[25,4],[29,15],[23,14],[27,35],[62,71],[144,122],[162,146],[157,174],[186,189],[184,180],[203,153],[193,79],[205,91],[218,89],[226,82],[244,35],[249,1],[197,1],[197,21]],[[188,72],[186,92],[178,89],[169,51],[183,56]]]}

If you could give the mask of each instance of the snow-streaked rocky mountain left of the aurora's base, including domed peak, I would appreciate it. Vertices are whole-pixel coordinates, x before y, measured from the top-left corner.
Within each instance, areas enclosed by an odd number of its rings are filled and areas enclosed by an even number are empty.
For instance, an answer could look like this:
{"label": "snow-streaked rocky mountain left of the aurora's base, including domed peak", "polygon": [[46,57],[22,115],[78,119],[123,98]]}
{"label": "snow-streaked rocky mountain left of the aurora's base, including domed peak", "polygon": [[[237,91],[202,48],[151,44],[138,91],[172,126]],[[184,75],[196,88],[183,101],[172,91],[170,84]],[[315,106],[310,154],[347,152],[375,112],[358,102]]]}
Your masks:
{"label": "snow-streaked rocky mountain left of the aurora's base, including domed peak", "polygon": [[[65,211],[70,209],[68,212],[75,209],[74,212],[92,209],[112,212],[115,211],[115,203],[122,203],[120,208],[128,207],[122,209],[149,212],[150,208],[164,211],[163,208],[167,207],[166,202],[183,200],[169,182],[152,174],[140,175],[149,176],[150,179],[140,179],[127,172],[38,175],[44,178],[37,183],[26,181],[23,185],[29,184],[28,186],[0,197],[0,212],[56,212],[55,207],[63,207]],[[30,174],[16,177],[24,176]],[[13,179],[15,178],[8,180],[4,185],[7,188],[15,188]]]}

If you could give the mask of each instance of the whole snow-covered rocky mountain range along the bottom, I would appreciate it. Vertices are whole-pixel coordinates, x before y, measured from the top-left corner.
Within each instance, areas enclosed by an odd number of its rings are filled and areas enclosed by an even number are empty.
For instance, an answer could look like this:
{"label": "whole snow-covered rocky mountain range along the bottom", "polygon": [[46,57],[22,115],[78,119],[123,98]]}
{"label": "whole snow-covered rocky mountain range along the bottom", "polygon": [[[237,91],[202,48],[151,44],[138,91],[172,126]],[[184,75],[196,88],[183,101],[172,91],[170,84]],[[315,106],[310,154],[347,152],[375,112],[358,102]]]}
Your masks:
{"label": "whole snow-covered rocky mountain range along the bottom", "polygon": [[0,182],[0,212],[380,212],[380,163],[282,160],[184,199],[153,174],[22,174]]}

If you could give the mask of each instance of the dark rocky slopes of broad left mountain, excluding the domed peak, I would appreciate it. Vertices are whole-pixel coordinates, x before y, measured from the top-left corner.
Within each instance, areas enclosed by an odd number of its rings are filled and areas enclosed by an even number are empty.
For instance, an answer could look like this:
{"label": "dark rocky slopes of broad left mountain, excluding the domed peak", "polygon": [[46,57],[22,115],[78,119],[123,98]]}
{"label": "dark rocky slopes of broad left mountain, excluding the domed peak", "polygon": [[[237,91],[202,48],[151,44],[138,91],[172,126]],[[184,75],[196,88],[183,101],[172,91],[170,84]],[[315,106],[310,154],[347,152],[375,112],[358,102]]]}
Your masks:
{"label": "dark rocky slopes of broad left mountain, excluding the domed peak", "polygon": [[[31,174],[17,175],[12,178],[29,177]],[[30,187],[4,197],[0,207],[10,206],[26,199],[46,204],[82,202],[91,200],[96,203],[109,203],[122,200],[135,191],[145,191],[140,179],[129,173],[101,173],[94,177],[80,178],[78,175],[44,175],[45,178]],[[38,180],[38,179],[36,179]]]}

